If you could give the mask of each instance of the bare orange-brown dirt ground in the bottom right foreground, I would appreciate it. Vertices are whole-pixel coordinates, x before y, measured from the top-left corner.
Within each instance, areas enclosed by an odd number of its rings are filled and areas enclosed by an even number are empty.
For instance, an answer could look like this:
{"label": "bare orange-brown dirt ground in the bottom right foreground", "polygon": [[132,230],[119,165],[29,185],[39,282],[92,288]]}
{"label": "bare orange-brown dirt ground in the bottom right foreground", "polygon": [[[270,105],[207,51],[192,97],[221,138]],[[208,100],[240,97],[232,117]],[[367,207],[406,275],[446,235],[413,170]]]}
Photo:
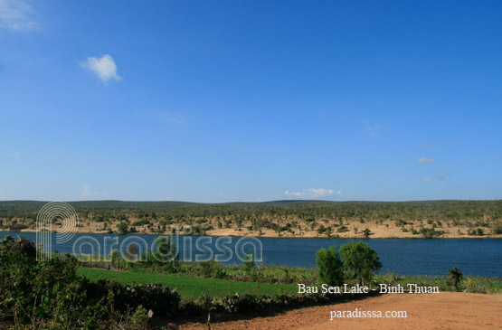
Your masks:
{"label": "bare orange-brown dirt ground in the bottom right foreground", "polygon": [[[406,311],[406,318],[335,318],[331,311]],[[186,324],[185,329],[207,329]],[[330,306],[306,307],[279,316],[216,323],[212,329],[502,329],[502,295],[441,292],[392,294]]]}

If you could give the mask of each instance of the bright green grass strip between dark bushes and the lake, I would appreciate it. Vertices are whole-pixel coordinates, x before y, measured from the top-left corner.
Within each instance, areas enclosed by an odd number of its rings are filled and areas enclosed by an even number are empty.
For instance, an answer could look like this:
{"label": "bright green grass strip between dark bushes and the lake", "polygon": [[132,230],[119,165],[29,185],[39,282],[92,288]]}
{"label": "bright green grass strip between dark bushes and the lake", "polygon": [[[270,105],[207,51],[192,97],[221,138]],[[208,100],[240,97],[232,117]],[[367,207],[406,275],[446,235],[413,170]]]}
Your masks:
{"label": "bright green grass strip between dark bushes and the lake", "polygon": [[184,300],[192,300],[203,293],[209,297],[224,297],[227,293],[251,293],[258,295],[272,295],[280,292],[295,292],[298,287],[285,284],[268,284],[252,282],[233,282],[226,279],[193,278],[181,274],[159,274],[148,271],[113,271],[107,269],[80,268],[77,270],[90,280],[114,279],[120,283],[138,284],[160,283],[169,288],[176,288]]}

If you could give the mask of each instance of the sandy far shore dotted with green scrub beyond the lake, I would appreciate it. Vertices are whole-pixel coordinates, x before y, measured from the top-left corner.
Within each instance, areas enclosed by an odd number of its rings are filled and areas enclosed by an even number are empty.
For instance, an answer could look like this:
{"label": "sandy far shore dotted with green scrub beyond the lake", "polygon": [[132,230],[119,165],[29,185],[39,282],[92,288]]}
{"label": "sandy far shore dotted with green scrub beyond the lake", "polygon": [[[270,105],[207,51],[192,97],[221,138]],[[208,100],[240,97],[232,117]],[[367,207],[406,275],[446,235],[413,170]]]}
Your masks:
{"label": "sandy far shore dotted with green scrub beyond the lake", "polygon": [[[1,231],[34,231],[45,202],[0,202]],[[79,232],[308,238],[502,238],[502,201],[72,202]],[[55,231],[61,228],[53,220]]]}

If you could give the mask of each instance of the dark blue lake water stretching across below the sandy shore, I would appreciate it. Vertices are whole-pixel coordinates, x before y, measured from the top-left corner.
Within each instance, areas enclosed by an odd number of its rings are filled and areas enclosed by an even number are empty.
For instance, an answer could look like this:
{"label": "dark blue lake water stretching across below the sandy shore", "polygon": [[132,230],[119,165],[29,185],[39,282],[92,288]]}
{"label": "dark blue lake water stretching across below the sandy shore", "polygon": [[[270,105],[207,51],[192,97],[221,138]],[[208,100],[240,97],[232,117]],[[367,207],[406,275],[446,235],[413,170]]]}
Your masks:
{"label": "dark blue lake water stretching across below the sandy shore", "polygon": [[[34,232],[1,232],[0,239],[6,235],[14,237],[24,236],[35,240]],[[150,247],[158,237],[156,235],[118,235],[118,234],[75,234],[69,242],[56,244],[55,235],[52,235],[52,250],[60,253],[73,252],[75,241],[89,240],[98,245],[99,254],[108,254],[111,249],[118,249],[124,240],[145,240]],[[118,240],[118,245],[110,247],[110,242]],[[191,259],[202,256],[204,250],[212,250],[214,254],[222,254],[218,249],[216,240],[218,236],[177,236],[181,259],[187,259],[185,251],[192,247]],[[228,240],[229,238],[227,238]],[[233,257],[225,263],[242,264],[237,258],[235,246],[241,238],[231,237],[230,243],[224,245],[232,250]],[[108,240],[108,243],[107,243]],[[199,240],[199,245],[197,245]],[[205,240],[205,242],[204,242]],[[316,266],[316,251],[331,245],[339,247],[352,239],[285,239],[285,238],[258,238],[262,246],[263,263],[266,265],[287,266]],[[245,242],[246,240],[242,240]],[[502,239],[434,239],[434,240],[399,240],[399,239],[370,239],[364,241],[376,250],[383,264],[383,272],[393,271],[398,275],[446,275],[451,267],[457,267],[464,275],[476,276],[502,276]],[[204,243],[204,244],[202,244]],[[105,249],[105,246],[107,248]],[[204,246],[206,247],[204,249]],[[247,250],[251,244],[245,245]],[[90,245],[82,245],[82,253],[91,253]]]}

